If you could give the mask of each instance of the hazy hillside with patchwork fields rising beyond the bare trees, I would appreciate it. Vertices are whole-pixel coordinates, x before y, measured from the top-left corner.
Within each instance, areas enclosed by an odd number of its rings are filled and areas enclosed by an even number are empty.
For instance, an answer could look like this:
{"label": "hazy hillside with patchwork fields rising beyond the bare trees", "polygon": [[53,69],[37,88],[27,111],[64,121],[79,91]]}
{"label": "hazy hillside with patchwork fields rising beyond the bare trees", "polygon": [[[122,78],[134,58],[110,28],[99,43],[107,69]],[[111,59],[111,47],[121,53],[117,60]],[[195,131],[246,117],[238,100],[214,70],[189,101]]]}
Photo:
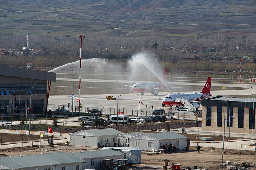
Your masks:
{"label": "hazy hillside with patchwork fields rising beyond the bare trees", "polygon": [[[121,27],[127,31],[111,36],[133,30],[142,36],[196,36],[256,27],[254,0],[8,0],[0,11],[0,35],[74,36]],[[180,29],[187,31],[175,31]]]}

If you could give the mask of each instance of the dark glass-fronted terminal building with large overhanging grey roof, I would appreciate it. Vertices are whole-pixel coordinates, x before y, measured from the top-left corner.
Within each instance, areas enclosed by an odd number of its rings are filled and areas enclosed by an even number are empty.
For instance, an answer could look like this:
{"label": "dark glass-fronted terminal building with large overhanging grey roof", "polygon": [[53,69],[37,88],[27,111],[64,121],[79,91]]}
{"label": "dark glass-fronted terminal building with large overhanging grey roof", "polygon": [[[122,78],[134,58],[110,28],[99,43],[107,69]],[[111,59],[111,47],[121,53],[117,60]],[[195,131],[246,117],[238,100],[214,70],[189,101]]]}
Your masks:
{"label": "dark glass-fronted terminal building with large overhanging grey roof", "polygon": [[52,81],[56,82],[56,73],[1,66],[0,116],[22,116],[26,108],[43,114]]}

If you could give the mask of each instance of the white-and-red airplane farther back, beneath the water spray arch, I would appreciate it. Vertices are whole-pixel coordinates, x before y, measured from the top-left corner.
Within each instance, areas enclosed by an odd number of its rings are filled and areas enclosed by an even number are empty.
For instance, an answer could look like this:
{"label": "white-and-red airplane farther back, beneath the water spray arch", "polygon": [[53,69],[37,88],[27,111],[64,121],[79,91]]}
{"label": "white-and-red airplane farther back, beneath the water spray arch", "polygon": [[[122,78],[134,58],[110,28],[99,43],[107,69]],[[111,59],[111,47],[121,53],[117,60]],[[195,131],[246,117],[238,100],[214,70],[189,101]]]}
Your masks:
{"label": "white-and-red airplane farther back, beneath the water spray arch", "polygon": [[[167,73],[167,68],[165,68],[165,71],[163,72],[163,80],[166,79],[166,73]],[[124,86],[128,86],[125,85]],[[133,86],[128,86],[131,87],[131,93],[138,93],[141,92],[142,95],[145,94],[145,92],[151,92],[153,95],[158,95],[158,90],[159,89],[166,89],[166,86],[162,82],[152,82],[152,83],[136,83]]]}

